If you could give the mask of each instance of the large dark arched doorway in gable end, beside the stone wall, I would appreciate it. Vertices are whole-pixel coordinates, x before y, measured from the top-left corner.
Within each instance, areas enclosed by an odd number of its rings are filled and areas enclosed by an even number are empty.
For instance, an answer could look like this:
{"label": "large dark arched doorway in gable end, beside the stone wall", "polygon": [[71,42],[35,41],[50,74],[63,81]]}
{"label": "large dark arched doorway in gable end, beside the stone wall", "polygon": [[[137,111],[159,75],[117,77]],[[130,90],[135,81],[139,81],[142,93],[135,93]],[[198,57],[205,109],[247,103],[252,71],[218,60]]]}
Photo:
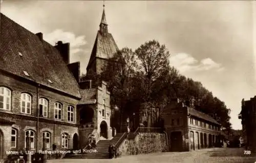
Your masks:
{"label": "large dark arched doorway in gable end, beside the stone wall", "polygon": [[179,131],[172,132],[170,134],[170,151],[181,152],[182,149],[182,133]]}

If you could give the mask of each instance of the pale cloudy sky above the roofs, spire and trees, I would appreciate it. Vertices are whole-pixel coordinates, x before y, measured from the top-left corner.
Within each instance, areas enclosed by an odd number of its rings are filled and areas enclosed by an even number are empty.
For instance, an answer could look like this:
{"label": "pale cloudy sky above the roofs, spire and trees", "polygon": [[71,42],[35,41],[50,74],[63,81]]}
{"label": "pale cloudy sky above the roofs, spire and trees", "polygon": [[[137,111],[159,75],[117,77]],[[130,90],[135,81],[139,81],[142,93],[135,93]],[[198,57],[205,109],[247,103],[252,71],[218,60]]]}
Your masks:
{"label": "pale cloudy sky above the roofs, spire and trees", "polygon": [[[11,1],[1,12],[51,44],[70,42],[70,62],[86,73],[103,1]],[[119,49],[145,41],[165,44],[170,64],[200,81],[231,109],[241,129],[241,101],[256,95],[256,3],[253,1],[105,1],[106,21]],[[253,12],[254,11],[254,12]]]}

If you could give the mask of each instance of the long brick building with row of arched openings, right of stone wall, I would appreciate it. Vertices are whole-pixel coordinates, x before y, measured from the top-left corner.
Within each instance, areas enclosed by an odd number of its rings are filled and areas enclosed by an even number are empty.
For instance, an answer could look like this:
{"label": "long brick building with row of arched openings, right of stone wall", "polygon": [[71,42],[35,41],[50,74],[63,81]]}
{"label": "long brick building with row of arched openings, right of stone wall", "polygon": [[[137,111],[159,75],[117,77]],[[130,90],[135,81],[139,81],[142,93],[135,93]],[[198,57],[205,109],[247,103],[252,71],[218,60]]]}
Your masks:
{"label": "long brick building with row of arched openings, right of stone wall", "polygon": [[215,147],[220,142],[221,125],[209,115],[174,99],[163,110],[170,151],[194,151]]}

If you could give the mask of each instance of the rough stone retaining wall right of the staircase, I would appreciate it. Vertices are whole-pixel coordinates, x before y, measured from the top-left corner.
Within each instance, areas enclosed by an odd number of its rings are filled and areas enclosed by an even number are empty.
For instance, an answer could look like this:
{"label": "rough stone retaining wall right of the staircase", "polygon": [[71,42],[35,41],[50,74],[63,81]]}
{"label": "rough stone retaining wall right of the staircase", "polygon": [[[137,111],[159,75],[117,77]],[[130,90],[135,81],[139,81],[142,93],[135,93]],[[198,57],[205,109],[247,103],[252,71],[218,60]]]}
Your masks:
{"label": "rough stone retaining wall right of the staircase", "polygon": [[168,150],[164,133],[139,133],[134,139],[124,139],[118,148],[120,155],[158,153]]}

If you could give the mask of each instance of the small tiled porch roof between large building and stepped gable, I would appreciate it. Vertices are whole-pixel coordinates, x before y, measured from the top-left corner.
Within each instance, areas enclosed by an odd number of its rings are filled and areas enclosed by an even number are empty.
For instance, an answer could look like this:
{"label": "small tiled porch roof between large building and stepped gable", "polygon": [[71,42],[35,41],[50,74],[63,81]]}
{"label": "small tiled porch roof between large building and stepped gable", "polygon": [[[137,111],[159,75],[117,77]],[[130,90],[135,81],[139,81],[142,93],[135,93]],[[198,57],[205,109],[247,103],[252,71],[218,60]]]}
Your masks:
{"label": "small tiled porch roof between large building and stepped gable", "polygon": [[96,89],[80,89],[82,99],[79,101],[79,105],[82,104],[95,104],[96,103]]}

